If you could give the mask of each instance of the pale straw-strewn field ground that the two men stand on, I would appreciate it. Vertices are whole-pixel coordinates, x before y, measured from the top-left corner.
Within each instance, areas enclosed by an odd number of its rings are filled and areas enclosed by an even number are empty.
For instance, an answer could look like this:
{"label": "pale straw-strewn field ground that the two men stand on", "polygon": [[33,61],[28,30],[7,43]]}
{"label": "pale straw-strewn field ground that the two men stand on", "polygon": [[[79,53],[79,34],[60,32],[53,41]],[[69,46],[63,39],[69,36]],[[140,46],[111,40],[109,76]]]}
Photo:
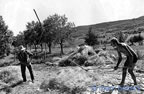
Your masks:
{"label": "pale straw-strewn field ground that the two men stand on", "polygon": [[[135,50],[138,49],[139,53],[143,55],[143,46],[132,47]],[[97,49],[99,48],[97,47]],[[47,58],[43,62],[38,62],[42,59],[33,60],[34,83],[30,81],[28,70],[26,74],[29,81],[22,83],[19,62],[14,60],[12,54],[1,59],[0,94],[143,94],[144,63],[142,58],[138,60],[134,70],[138,82],[137,89],[132,87],[133,81],[128,74],[125,82],[126,88],[116,90],[116,86],[121,81],[122,74],[121,68],[116,71],[113,70],[116,61],[97,66],[82,66],[85,69],[89,69],[88,71],[85,71],[79,66],[60,67],[49,65],[56,58],[65,57],[72,50],[74,48],[65,48],[65,55],[62,56],[58,54],[60,50],[55,48],[52,49],[55,55],[47,55]],[[107,46],[107,51],[110,54],[116,55],[116,52],[110,46]],[[123,63],[120,66],[122,65]]]}

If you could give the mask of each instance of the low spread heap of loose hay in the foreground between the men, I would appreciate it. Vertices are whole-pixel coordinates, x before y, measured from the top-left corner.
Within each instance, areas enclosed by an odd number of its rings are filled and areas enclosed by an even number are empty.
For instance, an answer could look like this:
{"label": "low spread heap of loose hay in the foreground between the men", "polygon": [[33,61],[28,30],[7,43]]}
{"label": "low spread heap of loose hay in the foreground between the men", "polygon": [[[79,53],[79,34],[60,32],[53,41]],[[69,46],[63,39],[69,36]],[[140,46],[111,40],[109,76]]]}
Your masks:
{"label": "low spread heap of loose hay in the foreground between the men", "polygon": [[48,92],[57,91],[58,94],[85,94],[88,86],[98,83],[101,79],[97,75],[94,71],[87,73],[79,67],[64,68],[59,70],[55,78],[44,80],[40,89]]}

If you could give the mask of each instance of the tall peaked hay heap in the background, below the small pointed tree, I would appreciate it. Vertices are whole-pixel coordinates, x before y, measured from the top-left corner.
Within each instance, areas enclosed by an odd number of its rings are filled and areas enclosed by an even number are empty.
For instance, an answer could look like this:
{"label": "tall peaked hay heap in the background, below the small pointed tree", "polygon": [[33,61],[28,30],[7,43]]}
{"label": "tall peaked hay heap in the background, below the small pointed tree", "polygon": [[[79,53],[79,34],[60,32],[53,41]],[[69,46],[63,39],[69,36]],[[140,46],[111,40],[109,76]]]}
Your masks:
{"label": "tall peaked hay heap in the background, below the small pointed tree", "polygon": [[97,66],[114,63],[115,60],[115,56],[109,54],[108,51],[100,50],[98,53],[96,53],[91,46],[86,45],[82,51],[77,51],[77,53],[74,55],[70,54],[65,56],[61,58],[58,63],[59,66],[76,66],[77,64],[81,66]]}

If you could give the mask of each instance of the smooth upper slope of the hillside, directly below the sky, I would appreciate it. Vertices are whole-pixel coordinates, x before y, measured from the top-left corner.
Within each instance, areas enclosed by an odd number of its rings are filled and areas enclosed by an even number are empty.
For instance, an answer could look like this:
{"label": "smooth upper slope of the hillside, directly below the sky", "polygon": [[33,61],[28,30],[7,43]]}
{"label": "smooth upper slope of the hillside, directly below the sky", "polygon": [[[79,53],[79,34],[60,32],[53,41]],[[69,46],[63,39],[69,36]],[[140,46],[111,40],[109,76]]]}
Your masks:
{"label": "smooth upper slope of the hillside, directly below the sky", "polygon": [[124,31],[130,33],[138,28],[144,28],[144,16],[134,18],[134,19],[127,19],[127,20],[119,20],[119,21],[112,21],[112,22],[104,22],[99,24],[92,24],[92,25],[85,25],[85,26],[78,26],[76,29],[78,30],[76,37],[83,37],[87,33],[89,27],[92,27],[92,31],[96,34],[101,33],[114,33],[117,31]]}

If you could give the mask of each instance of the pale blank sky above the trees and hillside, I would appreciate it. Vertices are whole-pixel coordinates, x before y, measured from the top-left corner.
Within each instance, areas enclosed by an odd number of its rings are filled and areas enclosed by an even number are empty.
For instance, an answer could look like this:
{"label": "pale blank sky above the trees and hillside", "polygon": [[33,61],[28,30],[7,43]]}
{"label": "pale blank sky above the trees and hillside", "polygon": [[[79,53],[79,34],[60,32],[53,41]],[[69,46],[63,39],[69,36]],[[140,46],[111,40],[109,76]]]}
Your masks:
{"label": "pale blank sky above the trees and hillside", "polygon": [[37,21],[33,9],[41,22],[57,13],[81,26],[144,16],[144,0],[0,0],[0,16],[14,35]]}

